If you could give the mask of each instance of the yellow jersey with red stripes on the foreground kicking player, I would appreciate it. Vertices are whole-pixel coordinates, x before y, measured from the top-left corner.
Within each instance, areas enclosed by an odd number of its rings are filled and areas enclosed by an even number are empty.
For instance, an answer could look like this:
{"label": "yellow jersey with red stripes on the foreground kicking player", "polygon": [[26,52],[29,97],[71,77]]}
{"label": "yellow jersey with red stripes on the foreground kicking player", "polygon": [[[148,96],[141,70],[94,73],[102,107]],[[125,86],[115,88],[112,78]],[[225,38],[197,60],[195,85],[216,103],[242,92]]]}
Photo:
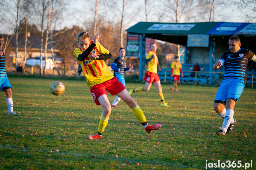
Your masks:
{"label": "yellow jersey with red stripes on the foreground kicking player", "polygon": [[[90,42],[90,45],[93,41]],[[82,50],[80,47],[74,50],[74,56],[76,59],[78,58],[79,54],[82,54]],[[109,51],[101,46],[99,42],[96,43],[96,46],[93,48],[90,54],[102,55],[102,54],[109,54]],[[104,60],[94,60],[90,58],[90,55],[84,60],[77,61],[81,64],[84,76],[86,78],[87,86],[92,88],[94,85],[103,83],[107,80],[112,79],[114,76],[110,69],[107,67]]]}

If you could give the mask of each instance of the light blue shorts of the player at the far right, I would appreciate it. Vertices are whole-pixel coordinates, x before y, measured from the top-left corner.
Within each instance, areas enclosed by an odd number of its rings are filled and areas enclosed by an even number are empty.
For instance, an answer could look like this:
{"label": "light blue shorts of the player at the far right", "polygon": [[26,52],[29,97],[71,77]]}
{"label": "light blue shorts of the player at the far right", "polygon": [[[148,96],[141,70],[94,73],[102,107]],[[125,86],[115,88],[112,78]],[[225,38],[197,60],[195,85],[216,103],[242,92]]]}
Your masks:
{"label": "light blue shorts of the player at the far right", "polygon": [[244,90],[244,86],[243,82],[224,81],[220,84],[214,100],[226,102],[228,98],[231,98],[238,101]]}

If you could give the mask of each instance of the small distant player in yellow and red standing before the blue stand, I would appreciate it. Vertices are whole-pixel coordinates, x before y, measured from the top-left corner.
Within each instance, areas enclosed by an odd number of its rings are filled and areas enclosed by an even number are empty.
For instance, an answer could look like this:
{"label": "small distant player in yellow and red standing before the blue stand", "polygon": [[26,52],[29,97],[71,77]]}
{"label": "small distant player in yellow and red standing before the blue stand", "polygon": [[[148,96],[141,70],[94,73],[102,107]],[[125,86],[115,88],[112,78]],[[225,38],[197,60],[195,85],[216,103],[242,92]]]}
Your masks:
{"label": "small distant player in yellow and red standing before the blue stand", "polygon": [[183,77],[183,72],[181,68],[181,63],[179,62],[179,57],[176,56],[175,61],[171,63],[171,77],[173,77],[174,85],[170,87],[171,92],[173,92],[173,88],[175,88],[176,92],[178,91],[178,84],[180,83],[180,73]]}

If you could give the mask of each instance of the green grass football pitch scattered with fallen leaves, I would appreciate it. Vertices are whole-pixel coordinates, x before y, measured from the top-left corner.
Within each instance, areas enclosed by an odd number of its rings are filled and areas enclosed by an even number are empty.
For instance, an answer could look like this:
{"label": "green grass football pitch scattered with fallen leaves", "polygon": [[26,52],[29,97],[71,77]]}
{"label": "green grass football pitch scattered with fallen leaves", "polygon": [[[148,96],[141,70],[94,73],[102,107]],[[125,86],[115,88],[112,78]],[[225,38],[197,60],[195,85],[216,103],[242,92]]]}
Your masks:
{"label": "green grass football pitch scattered with fallen leaves", "polygon": [[[241,161],[244,166],[251,160],[247,169],[256,169],[255,89],[245,88],[235,106],[238,124],[233,134],[215,135],[223,122],[213,110],[218,87],[181,85],[180,93],[171,93],[170,85],[162,85],[171,106],[166,108],[160,107],[152,85],[132,97],[149,124],[162,124],[160,130],[146,133],[120,101],[103,137],[91,141],[87,136],[96,134],[102,108],[94,103],[85,80],[9,80],[14,111],[21,115],[7,115],[2,92],[0,169],[206,169],[206,163]],[[53,81],[64,83],[63,95],[50,94]],[[139,86],[144,84],[126,84],[128,90]],[[111,103],[114,98],[109,95]]]}

